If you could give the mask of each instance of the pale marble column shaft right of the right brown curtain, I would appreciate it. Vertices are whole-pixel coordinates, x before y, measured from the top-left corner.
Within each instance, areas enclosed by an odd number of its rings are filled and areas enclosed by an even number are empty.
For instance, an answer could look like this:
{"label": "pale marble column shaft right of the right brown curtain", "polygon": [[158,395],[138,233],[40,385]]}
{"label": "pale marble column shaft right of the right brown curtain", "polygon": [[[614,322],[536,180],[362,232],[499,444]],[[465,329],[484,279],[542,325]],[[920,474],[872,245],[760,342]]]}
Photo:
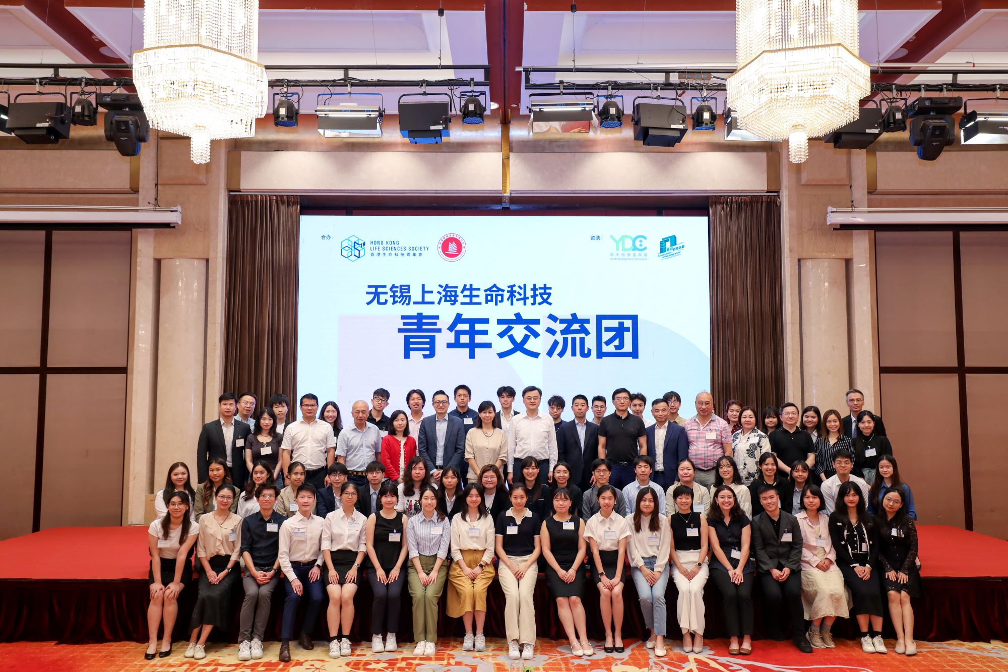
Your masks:
{"label": "pale marble column shaft right of the right brown curtain", "polygon": [[845,259],[801,259],[801,404],[820,410],[844,399],[850,379]]}

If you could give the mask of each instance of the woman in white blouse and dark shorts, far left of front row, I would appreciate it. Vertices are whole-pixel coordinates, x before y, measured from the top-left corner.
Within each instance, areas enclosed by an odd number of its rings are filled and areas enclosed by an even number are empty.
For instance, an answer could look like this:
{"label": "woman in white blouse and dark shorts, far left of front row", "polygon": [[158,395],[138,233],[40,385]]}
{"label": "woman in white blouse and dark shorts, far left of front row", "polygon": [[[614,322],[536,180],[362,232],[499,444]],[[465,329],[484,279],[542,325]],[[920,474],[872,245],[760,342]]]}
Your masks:
{"label": "woman in white blouse and dark shorts, far left of front row", "polygon": [[[173,471],[174,469],[168,470],[169,477]],[[185,479],[188,480],[188,469],[185,469]],[[168,513],[147,528],[147,543],[150,546],[150,574],[147,577],[150,585],[150,605],[147,606],[150,642],[144,654],[147,660],[154,659],[155,651],[161,658],[167,658],[171,654],[171,632],[178,615],[178,594],[193,581],[190,553],[200,534],[200,528],[190,518],[191,509],[188,494],[184,491],[174,492],[168,497]],[[164,634],[158,651],[157,629],[162,621]]]}

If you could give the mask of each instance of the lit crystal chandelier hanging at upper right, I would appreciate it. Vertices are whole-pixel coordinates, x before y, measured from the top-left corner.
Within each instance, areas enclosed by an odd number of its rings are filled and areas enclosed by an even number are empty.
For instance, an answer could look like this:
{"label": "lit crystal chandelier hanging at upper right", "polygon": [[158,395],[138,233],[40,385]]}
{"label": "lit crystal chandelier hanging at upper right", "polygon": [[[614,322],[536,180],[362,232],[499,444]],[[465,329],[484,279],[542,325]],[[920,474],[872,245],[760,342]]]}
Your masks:
{"label": "lit crystal chandelier hanging at upper right", "polygon": [[857,0],[737,0],[735,50],[729,107],[742,128],[787,138],[793,163],[808,157],[809,137],[856,119],[871,90]]}

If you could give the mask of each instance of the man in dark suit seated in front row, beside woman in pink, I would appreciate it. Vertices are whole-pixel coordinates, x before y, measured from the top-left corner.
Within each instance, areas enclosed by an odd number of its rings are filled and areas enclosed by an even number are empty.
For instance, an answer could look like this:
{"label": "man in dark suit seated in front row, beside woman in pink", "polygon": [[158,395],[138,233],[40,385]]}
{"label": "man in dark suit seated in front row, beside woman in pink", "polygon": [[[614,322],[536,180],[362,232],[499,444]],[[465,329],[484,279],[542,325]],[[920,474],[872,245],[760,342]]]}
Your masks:
{"label": "man in dark suit seated in front row, beside woman in pink", "polygon": [[769,483],[759,487],[763,513],[753,519],[752,540],[756,572],[763,588],[764,623],[772,639],[783,641],[781,624],[787,609],[791,639],[801,653],[811,653],[805,638],[804,609],[801,605],[801,529],[798,519],[780,510],[780,495]]}

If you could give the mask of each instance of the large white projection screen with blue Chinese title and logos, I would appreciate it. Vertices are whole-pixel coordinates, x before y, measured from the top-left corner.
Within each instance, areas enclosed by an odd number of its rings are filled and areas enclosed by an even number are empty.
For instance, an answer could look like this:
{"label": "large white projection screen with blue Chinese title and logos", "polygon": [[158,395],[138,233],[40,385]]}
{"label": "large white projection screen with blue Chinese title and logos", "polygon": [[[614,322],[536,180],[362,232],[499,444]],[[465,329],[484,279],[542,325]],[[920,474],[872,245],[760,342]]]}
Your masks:
{"label": "large white projection screen with blue Chinese title and logos", "polygon": [[430,413],[438,388],[476,408],[535,384],[570,419],[572,397],[616,387],[647,417],[674,389],[689,415],[710,386],[706,217],[303,216],[298,302],[297,394],[345,425],[376,387],[386,413],[413,387]]}

